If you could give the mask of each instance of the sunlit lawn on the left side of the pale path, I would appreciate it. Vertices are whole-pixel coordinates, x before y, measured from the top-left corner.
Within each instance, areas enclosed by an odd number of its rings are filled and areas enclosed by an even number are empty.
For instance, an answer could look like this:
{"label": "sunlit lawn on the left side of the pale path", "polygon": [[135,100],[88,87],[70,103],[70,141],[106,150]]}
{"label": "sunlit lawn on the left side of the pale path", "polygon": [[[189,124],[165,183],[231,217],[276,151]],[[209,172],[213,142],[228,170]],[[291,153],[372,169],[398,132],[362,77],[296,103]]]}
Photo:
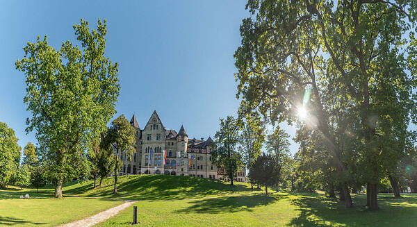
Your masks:
{"label": "sunlit lawn on the left side of the pale path", "polygon": [[[83,219],[123,203],[104,199],[65,197],[53,199],[52,189],[36,190],[10,187],[0,190],[0,226],[57,226]],[[29,194],[30,199],[19,199]]]}

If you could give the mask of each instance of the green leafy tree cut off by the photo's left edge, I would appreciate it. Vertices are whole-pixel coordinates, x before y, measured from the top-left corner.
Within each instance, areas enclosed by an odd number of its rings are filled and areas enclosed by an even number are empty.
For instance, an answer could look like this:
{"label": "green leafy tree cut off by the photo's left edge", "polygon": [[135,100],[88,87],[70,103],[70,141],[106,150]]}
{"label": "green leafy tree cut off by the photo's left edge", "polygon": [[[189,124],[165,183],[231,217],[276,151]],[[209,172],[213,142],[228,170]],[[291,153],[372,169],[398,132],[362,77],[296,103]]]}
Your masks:
{"label": "green leafy tree cut off by the photo's left edge", "polygon": [[15,131],[0,121],[0,187],[7,187],[19,168],[22,148],[18,140]]}

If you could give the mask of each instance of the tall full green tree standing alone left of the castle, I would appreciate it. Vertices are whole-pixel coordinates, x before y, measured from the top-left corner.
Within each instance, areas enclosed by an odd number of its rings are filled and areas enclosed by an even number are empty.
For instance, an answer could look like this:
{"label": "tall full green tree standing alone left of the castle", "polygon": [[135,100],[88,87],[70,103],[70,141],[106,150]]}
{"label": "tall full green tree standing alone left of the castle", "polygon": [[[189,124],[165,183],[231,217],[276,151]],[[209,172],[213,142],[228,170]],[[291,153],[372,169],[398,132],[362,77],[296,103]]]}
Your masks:
{"label": "tall full green tree standing alone left of the castle", "polygon": [[97,30],[90,31],[83,19],[73,28],[81,48],[67,41],[56,51],[47,36],[38,37],[15,63],[26,76],[24,103],[32,112],[26,133],[36,131],[56,198],[62,197],[63,183],[75,177],[74,163],[84,159],[82,151],[106,131],[120,90],[117,62],[104,57],[106,20],[98,20]]}

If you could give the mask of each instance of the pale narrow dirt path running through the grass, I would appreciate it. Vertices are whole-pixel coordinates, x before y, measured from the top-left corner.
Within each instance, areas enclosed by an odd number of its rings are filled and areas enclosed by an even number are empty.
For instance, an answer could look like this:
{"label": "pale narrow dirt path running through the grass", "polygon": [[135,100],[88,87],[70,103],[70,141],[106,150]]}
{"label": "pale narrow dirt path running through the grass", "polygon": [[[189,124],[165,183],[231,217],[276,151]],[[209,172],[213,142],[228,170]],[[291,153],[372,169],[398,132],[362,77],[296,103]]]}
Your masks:
{"label": "pale narrow dirt path running through the grass", "polygon": [[115,206],[114,208],[99,212],[97,215],[86,217],[85,219],[79,221],[72,221],[60,227],[94,226],[99,224],[101,221],[106,221],[107,219],[117,215],[122,210],[129,208],[129,206],[131,206],[133,203],[135,203],[135,201],[126,201],[121,205]]}

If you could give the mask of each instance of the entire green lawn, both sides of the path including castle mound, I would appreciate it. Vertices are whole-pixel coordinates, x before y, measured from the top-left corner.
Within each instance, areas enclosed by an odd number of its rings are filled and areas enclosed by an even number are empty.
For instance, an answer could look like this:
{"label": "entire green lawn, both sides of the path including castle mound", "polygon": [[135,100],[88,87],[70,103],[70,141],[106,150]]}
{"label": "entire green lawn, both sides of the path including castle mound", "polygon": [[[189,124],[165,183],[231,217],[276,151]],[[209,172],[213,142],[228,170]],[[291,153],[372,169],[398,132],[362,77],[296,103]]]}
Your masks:
{"label": "entire green lawn, both sides of the path including castle mound", "polygon": [[[187,176],[123,176],[119,194],[111,194],[113,178],[92,188],[92,180],[65,185],[64,199],[53,189],[0,190],[0,226],[56,226],[83,219],[122,201],[135,199],[140,226],[415,226],[417,196],[394,199],[379,194],[380,210],[366,208],[366,195],[353,195],[354,208],[321,193],[251,190],[229,183]],[[30,194],[31,199],[19,199]],[[81,196],[81,197],[80,197]],[[128,226],[133,206],[99,226]]]}

